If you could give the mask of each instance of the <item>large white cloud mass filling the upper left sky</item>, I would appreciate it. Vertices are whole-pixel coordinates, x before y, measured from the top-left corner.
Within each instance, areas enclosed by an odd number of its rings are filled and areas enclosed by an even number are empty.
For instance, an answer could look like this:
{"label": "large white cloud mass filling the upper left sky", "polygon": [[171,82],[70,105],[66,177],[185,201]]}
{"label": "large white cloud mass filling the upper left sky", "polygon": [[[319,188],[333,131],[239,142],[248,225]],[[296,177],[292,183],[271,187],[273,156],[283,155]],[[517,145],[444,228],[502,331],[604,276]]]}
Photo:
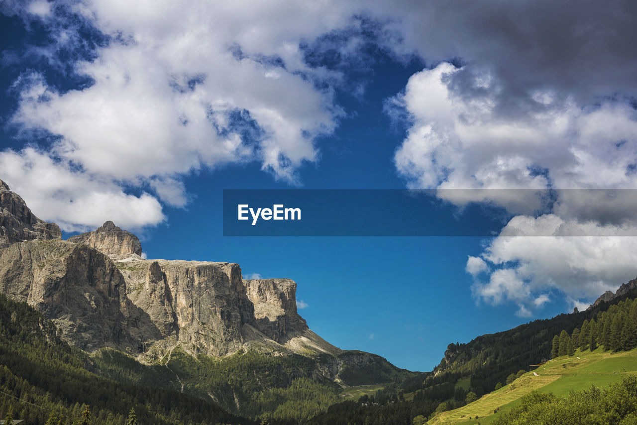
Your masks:
{"label": "large white cloud mass filling the upper left sky", "polygon": [[[69,197],[66,208],[62,196],[55,208],[41,208],[38,202],[46,204],[47,196],[38,196],[54,182],[33,180],[35,187],[24,191],[21,173],[3,170],[3,178],[44,219],[66,217],[66,230],[104,219],[157,224],[161,203],[187,205],[182,177],[202,168],[258,161],[275,179],[299,184],[299,167],[317,160],[315,139],[333,132],[342,115],[333,100],[339,73],[308,64],[301,44],[347,27],[352,10],[338,2],[7,2],[2,11],[27,24],[47,18],[54,36],[37,53],[54,62],[66,43],[72,54],[64,55],[71,57],[64,66],[71,71],[60,65],[61,73],[83,80],[69,90],[43,73],[24,73],[13,86],[19,101],[11,122],[27,140],[49,135],[37,152],[41,160],[48,158],[57,173],[72,170],[66,173],[69,186],[89,191],[85,197],[92,197],[101,218],[71,205]],[[104,41],[83,51],[86,40],[72,31],[77,22]],[[26,148],[0,153],[5,162],[33,154]],[[147,192],[127,195],[131,188]],[[143,205],[120,203],[115,217],[109,205],[117,203],[105,192]],[[159,214],[145,216],[151,205]],[[63,210],[77,212],[71,218]]]}

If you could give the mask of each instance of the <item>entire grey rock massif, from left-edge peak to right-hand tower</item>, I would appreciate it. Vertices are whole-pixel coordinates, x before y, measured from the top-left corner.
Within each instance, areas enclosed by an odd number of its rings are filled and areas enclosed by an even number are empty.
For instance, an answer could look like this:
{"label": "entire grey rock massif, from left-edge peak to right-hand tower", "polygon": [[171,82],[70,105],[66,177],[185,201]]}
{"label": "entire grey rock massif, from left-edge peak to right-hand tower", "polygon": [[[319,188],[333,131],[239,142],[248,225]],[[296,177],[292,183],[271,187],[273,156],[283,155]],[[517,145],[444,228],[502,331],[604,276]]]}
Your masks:
{"label": "entire grey rock massif, from left-edge peak to right-hand tower", "polygon": [[236,263],[145,260],[137,236],[110,221],[62,241],[59,227],[4,184],[0,196],[0,291],[34,306],[83,350],[155,359],[176,345],[210,356],[342,352],[298,315],[293,280],[243,280]]}

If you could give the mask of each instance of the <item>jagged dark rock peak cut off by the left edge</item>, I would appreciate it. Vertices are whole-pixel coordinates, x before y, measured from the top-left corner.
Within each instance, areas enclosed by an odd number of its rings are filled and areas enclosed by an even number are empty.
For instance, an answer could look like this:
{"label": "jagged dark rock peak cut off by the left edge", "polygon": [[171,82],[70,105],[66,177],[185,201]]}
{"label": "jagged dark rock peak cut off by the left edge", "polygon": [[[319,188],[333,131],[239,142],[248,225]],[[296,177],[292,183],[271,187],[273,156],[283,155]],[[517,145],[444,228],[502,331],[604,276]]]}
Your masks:
{"label": "jagged dark rock peak cut off by the left edge", "polygon": [[36,239],[62,239],[60,227],[38,219],[20,196],[0,180],[0,248]]}

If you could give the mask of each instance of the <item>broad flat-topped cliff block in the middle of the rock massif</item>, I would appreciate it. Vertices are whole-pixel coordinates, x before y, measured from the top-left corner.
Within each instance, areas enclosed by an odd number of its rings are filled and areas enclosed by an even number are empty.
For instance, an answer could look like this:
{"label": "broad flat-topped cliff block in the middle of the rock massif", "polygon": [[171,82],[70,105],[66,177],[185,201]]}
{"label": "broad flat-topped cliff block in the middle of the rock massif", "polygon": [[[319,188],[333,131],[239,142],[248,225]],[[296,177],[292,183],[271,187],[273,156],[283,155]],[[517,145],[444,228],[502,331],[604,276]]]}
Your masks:
{"label": "broad flat-topped cliff block in the middle of the rock massif", "polygon": [[251,318],[238,264],[141,260],[117,265],[128,282],[129,299],[149,315],[162,339],[211,356],[243,346],[241,327]]}

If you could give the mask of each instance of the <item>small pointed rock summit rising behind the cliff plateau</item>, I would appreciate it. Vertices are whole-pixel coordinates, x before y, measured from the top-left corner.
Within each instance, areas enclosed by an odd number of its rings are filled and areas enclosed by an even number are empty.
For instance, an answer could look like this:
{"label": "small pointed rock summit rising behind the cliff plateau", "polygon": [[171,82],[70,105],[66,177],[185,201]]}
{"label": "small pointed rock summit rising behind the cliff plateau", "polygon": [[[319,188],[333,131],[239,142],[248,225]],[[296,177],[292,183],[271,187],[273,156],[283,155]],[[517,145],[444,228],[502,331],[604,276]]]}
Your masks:
{"label": "small pointed rock summit rising behind the cliff plateau", "polygon": [[68,239],[73,243],[85,243],[107,256],[125,258],[132,255],[141,256],[141,243],[137,236],[107,221],[96,231],[76,234]]}

